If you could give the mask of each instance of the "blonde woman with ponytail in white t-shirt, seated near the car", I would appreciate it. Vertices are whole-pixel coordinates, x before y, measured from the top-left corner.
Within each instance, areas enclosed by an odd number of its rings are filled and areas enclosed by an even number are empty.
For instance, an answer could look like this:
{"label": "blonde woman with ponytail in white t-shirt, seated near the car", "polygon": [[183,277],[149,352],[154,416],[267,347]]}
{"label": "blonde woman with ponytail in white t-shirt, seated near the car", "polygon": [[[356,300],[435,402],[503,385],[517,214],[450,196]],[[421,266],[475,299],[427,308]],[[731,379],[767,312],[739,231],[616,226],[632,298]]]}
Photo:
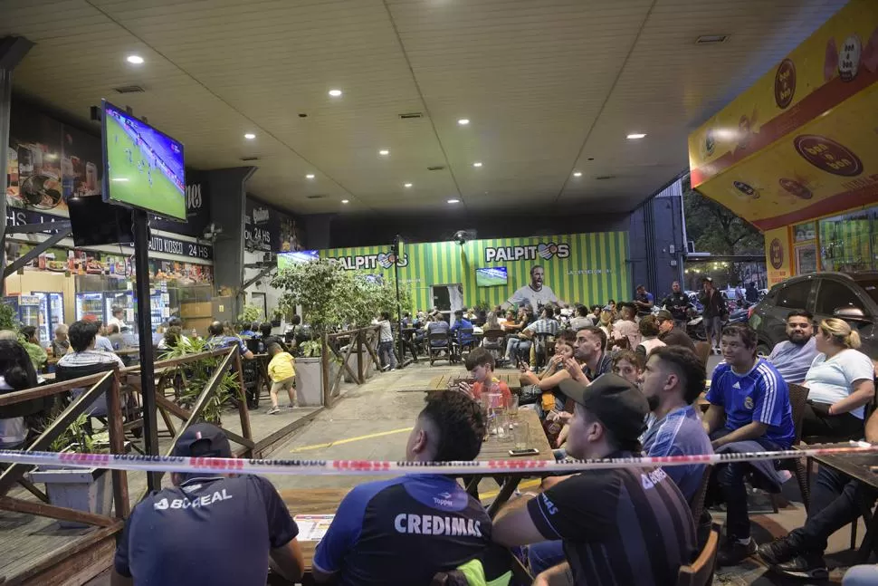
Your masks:
{"label": "blonde woman with ponytail in white t-shirt, seated near the car", "polygon": [[808,400],[802,436],[862,439],[864,406],[875,395],[875,367],[860,347],[860,335],[844,320],[820,322],[815,334],[820,352],[805,377]]}

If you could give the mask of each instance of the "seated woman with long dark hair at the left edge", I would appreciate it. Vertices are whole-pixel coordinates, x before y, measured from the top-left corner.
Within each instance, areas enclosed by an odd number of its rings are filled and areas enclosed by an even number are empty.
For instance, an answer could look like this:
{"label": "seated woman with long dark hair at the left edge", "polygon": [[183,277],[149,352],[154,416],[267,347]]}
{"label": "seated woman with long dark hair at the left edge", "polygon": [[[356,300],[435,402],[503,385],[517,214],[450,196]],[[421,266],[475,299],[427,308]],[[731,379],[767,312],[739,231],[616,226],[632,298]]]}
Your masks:
{"label": "seated woman with long dark hair at the left edge", "polygon": [[[16,390],[33,389],[37,385],[36,370],[24,346],[14,340],[0,340],[0,394]],[[24,404],[18,403],[0,409],[0,449],[21,449],[27,438],[24,415],[6,417],[11,412],[21,411]]]}

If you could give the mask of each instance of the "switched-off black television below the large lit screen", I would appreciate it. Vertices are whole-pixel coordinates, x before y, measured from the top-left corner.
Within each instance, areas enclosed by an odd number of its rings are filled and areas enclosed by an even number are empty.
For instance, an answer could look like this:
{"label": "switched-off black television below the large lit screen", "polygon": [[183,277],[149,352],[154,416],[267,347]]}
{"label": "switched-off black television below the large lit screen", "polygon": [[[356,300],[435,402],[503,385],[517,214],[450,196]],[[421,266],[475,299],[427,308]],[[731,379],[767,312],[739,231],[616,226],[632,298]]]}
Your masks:
{"label": "switched-off black television below the large lit screen", "polygon": [[129,245],[131,210],[113,206],[100,196],[71,197],[67,200],[74,246]]}

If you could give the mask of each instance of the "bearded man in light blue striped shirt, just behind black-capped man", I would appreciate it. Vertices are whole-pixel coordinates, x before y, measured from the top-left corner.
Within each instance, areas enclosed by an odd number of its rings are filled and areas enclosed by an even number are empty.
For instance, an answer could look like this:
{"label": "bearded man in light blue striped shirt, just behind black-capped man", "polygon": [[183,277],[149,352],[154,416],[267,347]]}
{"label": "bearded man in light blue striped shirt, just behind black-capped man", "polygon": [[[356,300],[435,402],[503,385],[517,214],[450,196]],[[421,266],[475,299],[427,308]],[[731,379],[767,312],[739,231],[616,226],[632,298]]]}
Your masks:
{"label": "bearded man in light blue striped shirt, just behind black-capped man", "polygon": [[[704,389],[704,365],[695,352],[685,348],[656,348],[640,375],[640,388],[649,403],[646,432],[641,437],[646,456],[689,456],[712,454],[701,418],[692,406]],[[701,486],[704,466],[667,466],[687,501]],[[698,523],[698,519],[695,519]]]}

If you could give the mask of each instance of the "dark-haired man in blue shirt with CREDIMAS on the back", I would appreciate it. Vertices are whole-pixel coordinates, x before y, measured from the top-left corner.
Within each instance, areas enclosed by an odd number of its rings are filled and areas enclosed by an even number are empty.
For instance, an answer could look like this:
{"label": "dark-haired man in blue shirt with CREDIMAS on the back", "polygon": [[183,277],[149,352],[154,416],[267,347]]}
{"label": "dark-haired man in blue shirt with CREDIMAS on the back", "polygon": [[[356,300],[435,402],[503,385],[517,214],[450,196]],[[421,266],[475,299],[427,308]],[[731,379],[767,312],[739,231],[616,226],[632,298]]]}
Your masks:
{"label": "dark-haired man in blue shirt with CREDIMAS on the back", "polygon": [[[482,408],[456,391],[426,399],[406,445],[409,462],[472,460],[482,449]],[[486,552],[491,519],[449,476],[402,476],[354,488],[314,554],[314,581],[429,584]]]}

